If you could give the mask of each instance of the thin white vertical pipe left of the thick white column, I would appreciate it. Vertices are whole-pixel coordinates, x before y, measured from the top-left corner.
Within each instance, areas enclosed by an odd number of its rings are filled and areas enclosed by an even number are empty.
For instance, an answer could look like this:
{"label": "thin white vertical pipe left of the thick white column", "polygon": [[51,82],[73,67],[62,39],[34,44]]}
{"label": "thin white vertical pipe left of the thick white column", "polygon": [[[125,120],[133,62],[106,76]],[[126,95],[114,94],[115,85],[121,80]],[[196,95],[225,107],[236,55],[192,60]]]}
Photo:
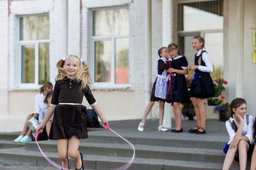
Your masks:
{"label": "thin white vertical pipe left of the thick white column", "polygon": [[145,105],[150,100],[150,83],[152,78],[152,57],[151,57],[151,0],[146,1],[145,10]]}

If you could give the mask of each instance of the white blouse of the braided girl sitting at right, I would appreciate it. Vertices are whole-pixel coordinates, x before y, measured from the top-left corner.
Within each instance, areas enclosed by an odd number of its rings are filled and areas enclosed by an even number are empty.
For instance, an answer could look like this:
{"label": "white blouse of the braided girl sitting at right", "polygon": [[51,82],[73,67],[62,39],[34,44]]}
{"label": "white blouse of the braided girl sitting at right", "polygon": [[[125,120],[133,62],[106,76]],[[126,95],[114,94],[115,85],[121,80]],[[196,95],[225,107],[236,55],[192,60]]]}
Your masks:
{"label": "white blouse of the braided girl sitting at right", "polygon": [[[235,118],[229,118],[231,120],[231,123],[233,121],[235,121],[237,128],[239,127],[239,124],[237,124]],[[228,131],[228,135],[229,135],[229,141],[228,144],[230,144],[236,134],[235,130],[232,128],[230,122],[226,121],[226,128]],[[246,116],[244,115],[244,126],[243,126],[243,130],[242,130],[242,136],[246,136],[249,138],[250,140],[250,144],[253,144],[253,116],[249,115],[249,123],[247,125],[246,123]]]}

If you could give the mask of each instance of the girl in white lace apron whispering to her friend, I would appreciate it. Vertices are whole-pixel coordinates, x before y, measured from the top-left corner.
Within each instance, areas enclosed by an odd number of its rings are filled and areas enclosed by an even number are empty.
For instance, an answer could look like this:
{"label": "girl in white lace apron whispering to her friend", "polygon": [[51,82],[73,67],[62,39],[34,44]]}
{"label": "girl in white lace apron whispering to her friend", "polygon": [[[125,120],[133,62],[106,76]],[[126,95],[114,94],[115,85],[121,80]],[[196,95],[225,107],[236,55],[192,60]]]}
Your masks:
{"label": "girl in white lace apron whispering to her friend", "polygon": [[[167,71],[170,68],[170,63],[168,62],[167,57],[167,48],[162,47],[158,50],[159,58],[157,59],[157,78],[152,87],[150,101],[148,106],[145,109],[143,118],[139,124],[138,130],[143,132],[145,122],[149,111],[154,106],[155,101],[159,101],[159,126],[158,131],[168,131],[168,129],[164,128],[163,126],[163,119],[164,119],[164,103],[166,100],[166,90],[167,90]],[[170,57],[169,57],[170,58]],[[170,61],[170,60],[169,60]]]}

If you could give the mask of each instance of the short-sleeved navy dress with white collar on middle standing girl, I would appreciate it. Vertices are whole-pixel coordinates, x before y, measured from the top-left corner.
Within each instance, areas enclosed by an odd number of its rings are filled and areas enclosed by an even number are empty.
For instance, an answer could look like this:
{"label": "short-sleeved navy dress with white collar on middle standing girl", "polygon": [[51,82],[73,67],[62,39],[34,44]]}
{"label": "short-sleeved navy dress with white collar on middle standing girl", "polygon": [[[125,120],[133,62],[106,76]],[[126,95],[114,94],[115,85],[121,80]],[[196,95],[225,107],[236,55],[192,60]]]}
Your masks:
{"label": "short-sleeved navy dress with white collar on middle standing girl", "polygon": [[[185,56],[174,57],[171,62],[173,69],[183,70],[188,67],[188,61]],[[171,92],[167,91],[167,103],[180,102],[189,103],[187,81],[184,74],[171,73]]]}

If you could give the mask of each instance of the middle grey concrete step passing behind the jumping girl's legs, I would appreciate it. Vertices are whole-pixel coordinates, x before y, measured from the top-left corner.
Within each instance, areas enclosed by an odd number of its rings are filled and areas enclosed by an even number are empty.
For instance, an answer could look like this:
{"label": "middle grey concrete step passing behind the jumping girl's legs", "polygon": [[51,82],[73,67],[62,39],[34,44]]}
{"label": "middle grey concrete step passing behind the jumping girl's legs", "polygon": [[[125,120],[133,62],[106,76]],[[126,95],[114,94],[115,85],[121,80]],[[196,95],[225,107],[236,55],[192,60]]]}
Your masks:
{"label": "middle grey concrete step passing behind the jumping girl's legs", "polygon": [[[44,152],[58,152],[56,141],[39,141],[40,147]],[[212,162],[223,163],[225,154],[222,150],[183,148],[152,145],[134,145],[137,158],[151,159],[171,159],[182,161]],[[25,144],[28,151],[38,151],[36,142]],[[81,142],[79,150],[86,154],[131,157],[133,150],[129,144],[108,144],[108,143],[89,143]]]}

